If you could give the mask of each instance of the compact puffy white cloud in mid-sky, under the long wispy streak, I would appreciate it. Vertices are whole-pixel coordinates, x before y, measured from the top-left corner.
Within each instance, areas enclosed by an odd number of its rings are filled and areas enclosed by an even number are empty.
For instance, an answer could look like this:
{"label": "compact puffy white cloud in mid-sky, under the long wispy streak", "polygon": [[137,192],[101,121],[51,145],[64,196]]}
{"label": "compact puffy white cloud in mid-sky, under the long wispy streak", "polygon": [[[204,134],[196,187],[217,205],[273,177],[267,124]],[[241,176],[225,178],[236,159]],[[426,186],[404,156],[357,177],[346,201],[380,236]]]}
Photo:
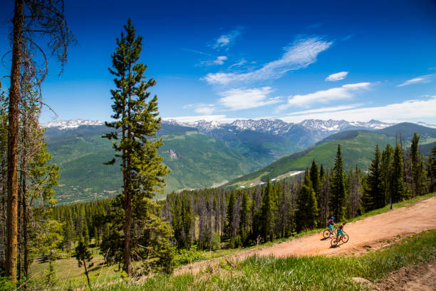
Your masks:
{"label": "compact puffy white cloud in mid-sky, under the long wispy streak", "polygon": [[279,97],[269,98],[274,90],[271,87],[251,88],[251,89],[231,89],[219,93],[218,103],[230,110],[241,110],[271,105],[280,102]]}

